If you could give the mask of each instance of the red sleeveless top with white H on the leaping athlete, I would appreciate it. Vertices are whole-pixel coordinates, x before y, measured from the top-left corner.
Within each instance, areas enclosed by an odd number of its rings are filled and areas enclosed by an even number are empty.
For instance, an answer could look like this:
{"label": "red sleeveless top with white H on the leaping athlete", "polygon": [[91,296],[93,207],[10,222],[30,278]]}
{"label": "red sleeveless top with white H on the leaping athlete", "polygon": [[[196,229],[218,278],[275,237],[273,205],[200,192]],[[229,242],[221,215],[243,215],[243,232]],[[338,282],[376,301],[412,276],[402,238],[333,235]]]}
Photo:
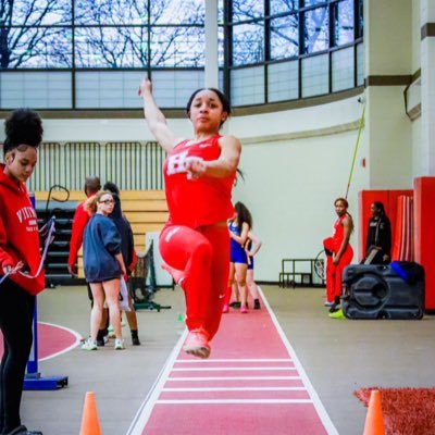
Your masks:
{"label": "red sleeveless top with white H on the leaping athlete", "polygon": [[189,158],[206,161],[219,159],[220,137],[216,135],[194,145],[183,140],[167,154],[163,174],[171,224],[196,228],[233,216],[232,189],[236,173],[226,178],[202,176],[189,179],[186,171]]}

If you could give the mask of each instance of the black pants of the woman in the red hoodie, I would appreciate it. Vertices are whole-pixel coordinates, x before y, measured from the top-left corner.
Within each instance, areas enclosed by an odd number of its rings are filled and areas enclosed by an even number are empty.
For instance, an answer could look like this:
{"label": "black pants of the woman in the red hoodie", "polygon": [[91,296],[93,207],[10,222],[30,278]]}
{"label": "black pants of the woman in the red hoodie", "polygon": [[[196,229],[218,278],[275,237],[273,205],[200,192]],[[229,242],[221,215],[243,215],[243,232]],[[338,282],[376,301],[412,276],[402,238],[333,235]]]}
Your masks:
{"label": "black pants of the woman in the red hoodie", "polygon": [[7,279],[0,285],[0,330],[4,353],[0,366],[0,433],[21,425],[20,403],[28,355],[35,297]]}

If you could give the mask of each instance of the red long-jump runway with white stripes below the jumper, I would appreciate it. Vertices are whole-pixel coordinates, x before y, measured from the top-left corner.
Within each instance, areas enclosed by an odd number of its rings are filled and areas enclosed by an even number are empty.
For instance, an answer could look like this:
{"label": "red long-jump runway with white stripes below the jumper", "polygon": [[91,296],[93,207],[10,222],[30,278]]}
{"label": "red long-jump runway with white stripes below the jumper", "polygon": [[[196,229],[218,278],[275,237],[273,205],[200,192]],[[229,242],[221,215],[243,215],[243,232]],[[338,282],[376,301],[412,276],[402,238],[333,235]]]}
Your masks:
{"label": "red long-jump runway with white stripes below the jumper", "polygon": [[224,314],[208,360],[181,350],[185,335],[128,435],[337,434],[264,302]]}

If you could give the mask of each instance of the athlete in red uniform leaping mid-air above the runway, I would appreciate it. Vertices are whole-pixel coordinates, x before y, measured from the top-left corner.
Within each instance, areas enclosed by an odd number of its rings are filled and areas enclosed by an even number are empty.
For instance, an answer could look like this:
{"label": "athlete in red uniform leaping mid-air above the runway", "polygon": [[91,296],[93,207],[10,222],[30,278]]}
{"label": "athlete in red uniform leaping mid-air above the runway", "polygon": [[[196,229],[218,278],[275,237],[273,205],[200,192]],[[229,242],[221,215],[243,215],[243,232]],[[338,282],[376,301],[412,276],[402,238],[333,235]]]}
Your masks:
{"label": "athlete in red uniform leaping mid-air above the runway", "polygon": [[234,214],[232,187],[240,142],[219,130],[231,113],[217,89],[199,89],[187,103],[195,138],[182,140],[166,125],[144,79],[139,95],[148,126],[167,152],[163,166],[169,221],[160,252],[186,295],[189,334],[184,350],[208,358],[219,328],[229,266],[227,219]]}

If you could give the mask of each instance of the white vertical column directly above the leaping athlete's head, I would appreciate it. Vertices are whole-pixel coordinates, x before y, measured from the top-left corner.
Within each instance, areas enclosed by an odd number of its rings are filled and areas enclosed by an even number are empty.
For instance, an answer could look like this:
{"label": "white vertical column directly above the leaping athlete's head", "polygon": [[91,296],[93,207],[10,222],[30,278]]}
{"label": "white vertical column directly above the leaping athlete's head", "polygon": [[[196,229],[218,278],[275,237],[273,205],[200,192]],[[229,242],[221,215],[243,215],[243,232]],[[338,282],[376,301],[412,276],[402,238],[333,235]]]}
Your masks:
{"label": "white vertical column directly above the leaping athlete's head", "polygon": [[217,0],[206,1],[206,77],[204,86],[217,88]]}

